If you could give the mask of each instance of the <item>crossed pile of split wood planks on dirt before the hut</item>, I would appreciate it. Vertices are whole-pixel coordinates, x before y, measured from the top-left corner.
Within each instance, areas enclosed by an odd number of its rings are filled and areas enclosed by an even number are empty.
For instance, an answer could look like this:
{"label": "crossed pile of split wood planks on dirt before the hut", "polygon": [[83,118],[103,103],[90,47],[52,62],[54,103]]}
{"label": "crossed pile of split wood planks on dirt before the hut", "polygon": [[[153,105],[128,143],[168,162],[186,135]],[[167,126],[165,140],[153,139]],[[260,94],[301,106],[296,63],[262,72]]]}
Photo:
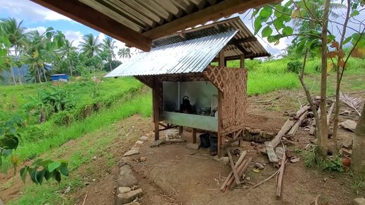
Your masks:
{"label": "crossed pile of split wood planks on dirt before the hut", "polygon": [[253,158],[248,158],[243,160],[247,153],[246,151],[243,151],[241,153],[240,158],[238,158],[236,164],[234,164],[231,152],[228,149],[227,153],[232,170],[226,177],[226,181],[224,181],[223,185],[221,186],[221,192],[226,192],[226,190],[231,190],[234,187],[236,187],[236,185],[241,185],[242,183],[241,179],[243,178],[243,173],[245,172],[245,170],[247,170],[248,165],[253,160]]}

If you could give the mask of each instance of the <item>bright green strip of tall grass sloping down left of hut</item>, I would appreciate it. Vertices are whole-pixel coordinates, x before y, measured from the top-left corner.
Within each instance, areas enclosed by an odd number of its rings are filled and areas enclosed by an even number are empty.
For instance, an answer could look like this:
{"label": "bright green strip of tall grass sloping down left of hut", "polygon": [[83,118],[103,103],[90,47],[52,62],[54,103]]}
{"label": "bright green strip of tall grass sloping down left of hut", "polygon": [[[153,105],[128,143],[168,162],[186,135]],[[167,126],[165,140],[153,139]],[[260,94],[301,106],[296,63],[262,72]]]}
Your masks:
{"label": "bright green strip of tall grass sloping down left of hut", "polygon": [[117,103],[110,109],[101,110],[81,122],[74,122],[69,127],[51,127],[47,124],[46,129],[51,129],[53,135],[38,141],[27,141],[18,147],[16,154],[21,158],[35,158],[50,148],[61,146],[71,139],[77,139],[86,133],[105,127],[108,124],[125,119],[134,114],[151,116],[151,95],[142,93],[126,101]]}

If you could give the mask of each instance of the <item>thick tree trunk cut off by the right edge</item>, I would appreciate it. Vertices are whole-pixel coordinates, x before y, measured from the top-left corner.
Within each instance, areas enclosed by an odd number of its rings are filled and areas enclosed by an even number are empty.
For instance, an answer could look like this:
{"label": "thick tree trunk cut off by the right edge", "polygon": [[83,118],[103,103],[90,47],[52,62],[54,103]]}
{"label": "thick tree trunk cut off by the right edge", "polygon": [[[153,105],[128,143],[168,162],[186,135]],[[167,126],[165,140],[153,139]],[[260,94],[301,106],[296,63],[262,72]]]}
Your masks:
{"label": "thick tree trunk cut off by the right edge", "polygon": [[365,104],[352,143],[351,169],[357,179],[365,178]]}

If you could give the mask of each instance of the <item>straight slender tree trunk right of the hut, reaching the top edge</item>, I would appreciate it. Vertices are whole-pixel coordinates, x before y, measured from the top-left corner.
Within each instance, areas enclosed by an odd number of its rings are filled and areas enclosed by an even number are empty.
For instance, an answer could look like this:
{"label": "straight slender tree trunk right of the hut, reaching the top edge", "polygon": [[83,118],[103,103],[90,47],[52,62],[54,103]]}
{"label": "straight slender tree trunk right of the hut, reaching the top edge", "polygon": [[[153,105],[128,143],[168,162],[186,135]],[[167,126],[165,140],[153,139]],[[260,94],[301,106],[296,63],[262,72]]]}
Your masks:
{"label": "straight slender tree trunk right of the hut, reaching the top edge", "polygon": [[318,154],[320,157],[327,156],[328,152],[328,124],[327,124],[327,30],[328,30],[328,13],[330,12],[330,0],[325,1],[325,10],[323,11],[322,27],[322,69],[320,75],[320,132],[318,133]]}

